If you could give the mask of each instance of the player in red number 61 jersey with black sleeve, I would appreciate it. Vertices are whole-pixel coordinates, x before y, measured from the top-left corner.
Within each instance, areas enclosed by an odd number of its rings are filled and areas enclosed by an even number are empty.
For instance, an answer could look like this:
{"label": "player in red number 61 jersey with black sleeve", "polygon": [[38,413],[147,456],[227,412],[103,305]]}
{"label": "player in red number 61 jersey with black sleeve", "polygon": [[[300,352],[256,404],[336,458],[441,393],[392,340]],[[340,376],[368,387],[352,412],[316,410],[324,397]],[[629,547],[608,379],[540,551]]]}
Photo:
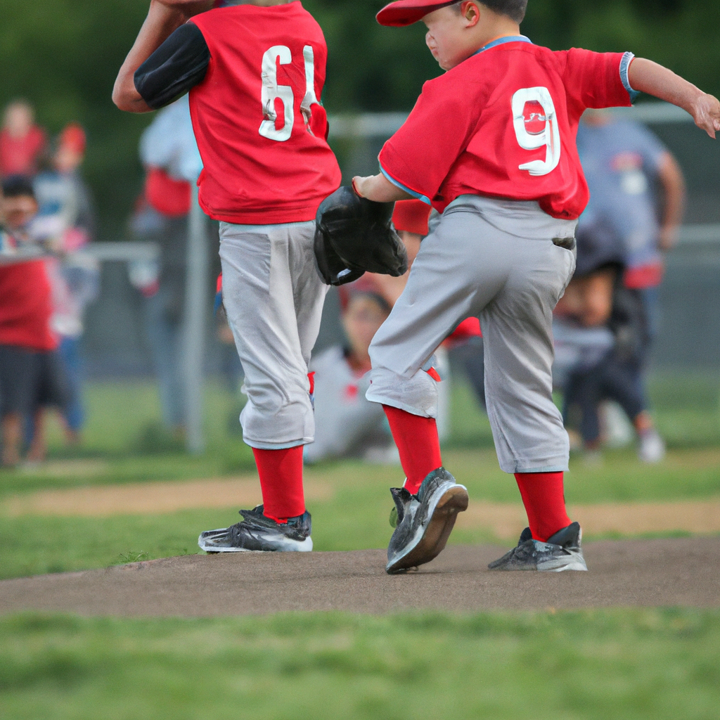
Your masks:
{"label": "player in red number 61 jersey with black sleeve", "polygon": [[204,169],[199,201],[220,221],[223,300],[245,371],[240,415],[263,505],[200,535],[207,552],[309,551],[302,446],[312,442],[307,363],[326,287],[312,241],[340,184],[319,98],[327,46],[298,1],[150,2],[115,83],[120,109],[147,112],[189,91]]}

